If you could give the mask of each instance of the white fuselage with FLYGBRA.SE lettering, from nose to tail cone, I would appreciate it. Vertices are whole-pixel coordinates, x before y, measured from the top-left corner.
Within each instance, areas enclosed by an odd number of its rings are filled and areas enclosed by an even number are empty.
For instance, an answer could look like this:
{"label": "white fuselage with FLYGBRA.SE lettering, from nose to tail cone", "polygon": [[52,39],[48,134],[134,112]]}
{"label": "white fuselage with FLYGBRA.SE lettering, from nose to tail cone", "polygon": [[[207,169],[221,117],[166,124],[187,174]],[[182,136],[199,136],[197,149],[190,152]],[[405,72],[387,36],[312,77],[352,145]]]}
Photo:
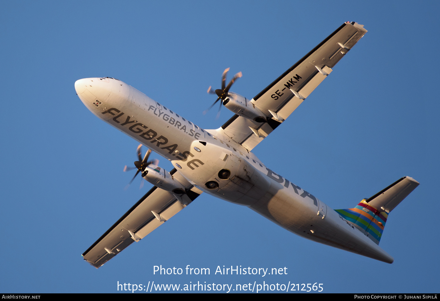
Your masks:
{"label": "white fuselage with FLYGBRA.SE lettering, from nose to tail cone", "polygon": [[[170,160],[198,189],[247,206],[307,239],[393,261],[336,211],[275,174],[221,131],[198,127],[120,80],[87,78],[77,80],[75,89],[93,114]],[[220,170],[230,172],[227,179],[220,178]]]}

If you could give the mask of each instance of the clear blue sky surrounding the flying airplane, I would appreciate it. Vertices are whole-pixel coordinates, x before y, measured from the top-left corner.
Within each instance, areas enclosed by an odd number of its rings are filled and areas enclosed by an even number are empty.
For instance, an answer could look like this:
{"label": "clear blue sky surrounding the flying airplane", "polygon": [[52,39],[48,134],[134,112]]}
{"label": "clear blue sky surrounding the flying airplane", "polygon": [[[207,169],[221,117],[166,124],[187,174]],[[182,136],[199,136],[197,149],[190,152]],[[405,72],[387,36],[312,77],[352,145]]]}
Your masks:
{"label": "clear blue sky surrounding the flying airplane", "polygon": [[[119,283],[323,283],[324,292],[438,292],[439,21],[436,2],[0,3],[0,291],[115,293]],[[246,207],[202,195],[99,270],[81,254],[145,194],[136,141],[92,115],[81,78],[110,76],[203,128],[227,67],[252,98],[345,21],[368,33],[254,152],[333,209],[402,176],[421,185],[390,214],[392,265],[300,238]],[[161,167],[172,166],[161,159]],[[210,268],[153,275],[153,266]],[[213,275],[216,267],[287,275]],[[276,291],[275,291],[276,292]]]}

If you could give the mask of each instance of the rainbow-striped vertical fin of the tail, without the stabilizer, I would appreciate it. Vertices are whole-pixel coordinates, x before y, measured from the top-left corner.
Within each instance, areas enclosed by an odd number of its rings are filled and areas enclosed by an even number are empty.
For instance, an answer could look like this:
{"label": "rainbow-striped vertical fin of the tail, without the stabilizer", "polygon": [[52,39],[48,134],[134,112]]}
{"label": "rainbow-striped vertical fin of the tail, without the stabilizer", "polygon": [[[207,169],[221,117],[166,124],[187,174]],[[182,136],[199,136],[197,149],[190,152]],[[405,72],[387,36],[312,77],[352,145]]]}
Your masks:
{"label": "rainbow-striped vertical fin of the tail, without the stabilizer", "polygon": [[388,214],[371,207],[366,200],[363,199],[354,208],[337,209],[335,211],[364,232],[372,241],[379,244]]}

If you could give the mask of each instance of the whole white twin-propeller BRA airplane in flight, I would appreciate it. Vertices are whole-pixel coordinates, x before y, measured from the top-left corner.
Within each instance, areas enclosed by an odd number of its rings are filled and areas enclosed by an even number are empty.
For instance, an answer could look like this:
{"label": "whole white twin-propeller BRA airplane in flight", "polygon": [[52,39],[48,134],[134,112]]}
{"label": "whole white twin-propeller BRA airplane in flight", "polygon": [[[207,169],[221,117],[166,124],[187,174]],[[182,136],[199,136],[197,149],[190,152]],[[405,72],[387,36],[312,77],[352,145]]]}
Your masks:
{"label": "whole white twin-propeller BRA airplane in flight", "polygon": [[[226,85],[226,69],[221,89],[209,87],[208,93],[217,95],[213,105],[219,103],[235,115],[214,130],[199,127],[121,80],[77,80],[75,90],[84,105],[140,143],[133,179],[140,173],[154,185],[82,254],[83,259],[101,267],[208,193],[249,207],[306,239],[392,263],[393,257],[379,247],[385,223],[418,181],[400,178],[353,208],[334,210],[276,174],[252,152],[365,33],[363,25],[345,22],[252,99],[229,91],[242,74],[237,73]],[[144,156],[142,145],[148,149]],[[174,168],[167,171],[157,160],[149,161],[151,150],[171,161]]]}

